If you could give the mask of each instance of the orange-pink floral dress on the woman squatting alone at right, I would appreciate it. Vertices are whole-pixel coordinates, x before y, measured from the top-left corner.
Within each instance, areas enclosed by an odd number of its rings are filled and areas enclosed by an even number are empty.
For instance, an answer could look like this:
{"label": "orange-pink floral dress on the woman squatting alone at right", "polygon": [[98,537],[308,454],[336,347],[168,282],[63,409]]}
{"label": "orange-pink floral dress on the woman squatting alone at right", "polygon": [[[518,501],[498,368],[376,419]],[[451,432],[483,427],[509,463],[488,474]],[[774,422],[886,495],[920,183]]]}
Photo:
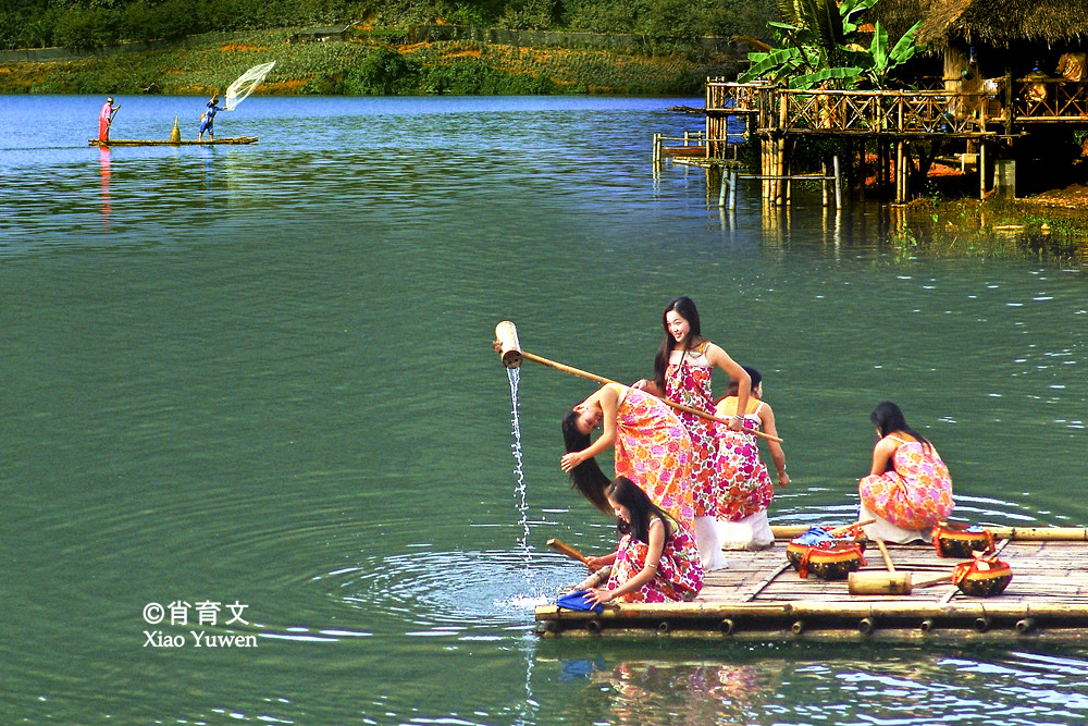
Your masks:
{"label": "orange-pink floral dress on the woman squatting alone at right", "polygon": [[900,442],[894,469],[858,482],[862,503],[897,527],[930,529],[952,513],[952,477],[931,444],[891,438]]}

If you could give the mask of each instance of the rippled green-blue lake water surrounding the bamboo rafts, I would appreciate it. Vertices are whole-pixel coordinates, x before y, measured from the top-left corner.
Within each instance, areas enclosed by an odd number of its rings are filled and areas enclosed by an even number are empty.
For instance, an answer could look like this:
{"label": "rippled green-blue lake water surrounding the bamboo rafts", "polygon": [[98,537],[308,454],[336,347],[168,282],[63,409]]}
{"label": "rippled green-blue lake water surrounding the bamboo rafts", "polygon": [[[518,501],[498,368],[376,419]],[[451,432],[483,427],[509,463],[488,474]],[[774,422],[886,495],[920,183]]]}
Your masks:
{"label": "rippled green-blue lake water surrounding the bamboo rafts", "polygon": [[[114,138],[195,137],[201,99],[119,100]],[[1085,525],[1081,266],[721,214],[650,163],[693,99],[250,98],[217,126],[258,145],[111,151],[101,101],[0,98],[0,721],[1088,718],[1083,647],[537,640],[581,576],[544,542],[614,542],[558,468],[593,384],[526,364],[519,471],[489,346],[633,380],[687,294],[764,372],[775,522],[850,520],[891,398],[961,520]]]}

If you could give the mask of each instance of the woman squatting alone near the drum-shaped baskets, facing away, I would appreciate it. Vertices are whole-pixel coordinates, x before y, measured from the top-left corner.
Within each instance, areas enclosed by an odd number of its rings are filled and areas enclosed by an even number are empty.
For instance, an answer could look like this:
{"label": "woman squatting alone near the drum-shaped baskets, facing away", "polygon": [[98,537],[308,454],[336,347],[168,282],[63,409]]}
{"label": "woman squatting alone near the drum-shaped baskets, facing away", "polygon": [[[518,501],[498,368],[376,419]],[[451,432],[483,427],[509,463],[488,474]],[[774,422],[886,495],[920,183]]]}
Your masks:
{"label": "woman squatting alone near the drum-shaped baskets, facing away", "polygon": [[877,428],[873,469],[857,485],[866,536],[887,542],[929,542],[932,528],[952,512],[952,478],[925,436],[906,424],[899,406],[877,404],[869,416]]}

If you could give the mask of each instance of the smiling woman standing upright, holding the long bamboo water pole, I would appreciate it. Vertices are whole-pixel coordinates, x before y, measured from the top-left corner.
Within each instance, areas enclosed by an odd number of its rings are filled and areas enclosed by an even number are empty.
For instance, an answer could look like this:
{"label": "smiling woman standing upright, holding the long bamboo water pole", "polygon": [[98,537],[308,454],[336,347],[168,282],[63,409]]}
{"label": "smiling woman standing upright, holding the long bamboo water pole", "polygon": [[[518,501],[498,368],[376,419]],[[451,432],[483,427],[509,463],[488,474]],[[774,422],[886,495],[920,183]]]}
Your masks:
{"label": "smiling woman standing upright, holding the long bamboo water pole", "polygon": [[[698,310],[690,297],[669,300],[662,315],[665,340],[654,358],[654,379],[642,380],[634,387],[650,391],[689,408],[712,413],[710,374],[718,368],[738,381],[738,398],[743,409],[747,405],[751,382],[749,374],[722,348],[702,336]],[[695,503],[695,536],[700,544],[703,567],[707,570],[726,566],[717,542],[716,518],[719,482],[717,480],[717,431],[709,419],[680,411],[680,420],[692,440],[692,479]],[[735,419],[729,428],[740,431]]]}

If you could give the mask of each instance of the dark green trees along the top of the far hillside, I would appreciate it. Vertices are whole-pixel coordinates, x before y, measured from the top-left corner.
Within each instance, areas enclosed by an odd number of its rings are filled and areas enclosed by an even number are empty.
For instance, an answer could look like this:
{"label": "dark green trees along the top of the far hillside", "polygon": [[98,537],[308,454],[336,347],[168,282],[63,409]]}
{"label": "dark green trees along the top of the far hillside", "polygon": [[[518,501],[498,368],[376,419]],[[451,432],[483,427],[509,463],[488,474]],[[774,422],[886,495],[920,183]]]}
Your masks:
{"label": "dark green trees along the top of the far hillside", "polygon": [[771,0],[0,0],[0,50],[94,50],[226,30],[448,23],[639,34],[651,40],[759,36]]}

